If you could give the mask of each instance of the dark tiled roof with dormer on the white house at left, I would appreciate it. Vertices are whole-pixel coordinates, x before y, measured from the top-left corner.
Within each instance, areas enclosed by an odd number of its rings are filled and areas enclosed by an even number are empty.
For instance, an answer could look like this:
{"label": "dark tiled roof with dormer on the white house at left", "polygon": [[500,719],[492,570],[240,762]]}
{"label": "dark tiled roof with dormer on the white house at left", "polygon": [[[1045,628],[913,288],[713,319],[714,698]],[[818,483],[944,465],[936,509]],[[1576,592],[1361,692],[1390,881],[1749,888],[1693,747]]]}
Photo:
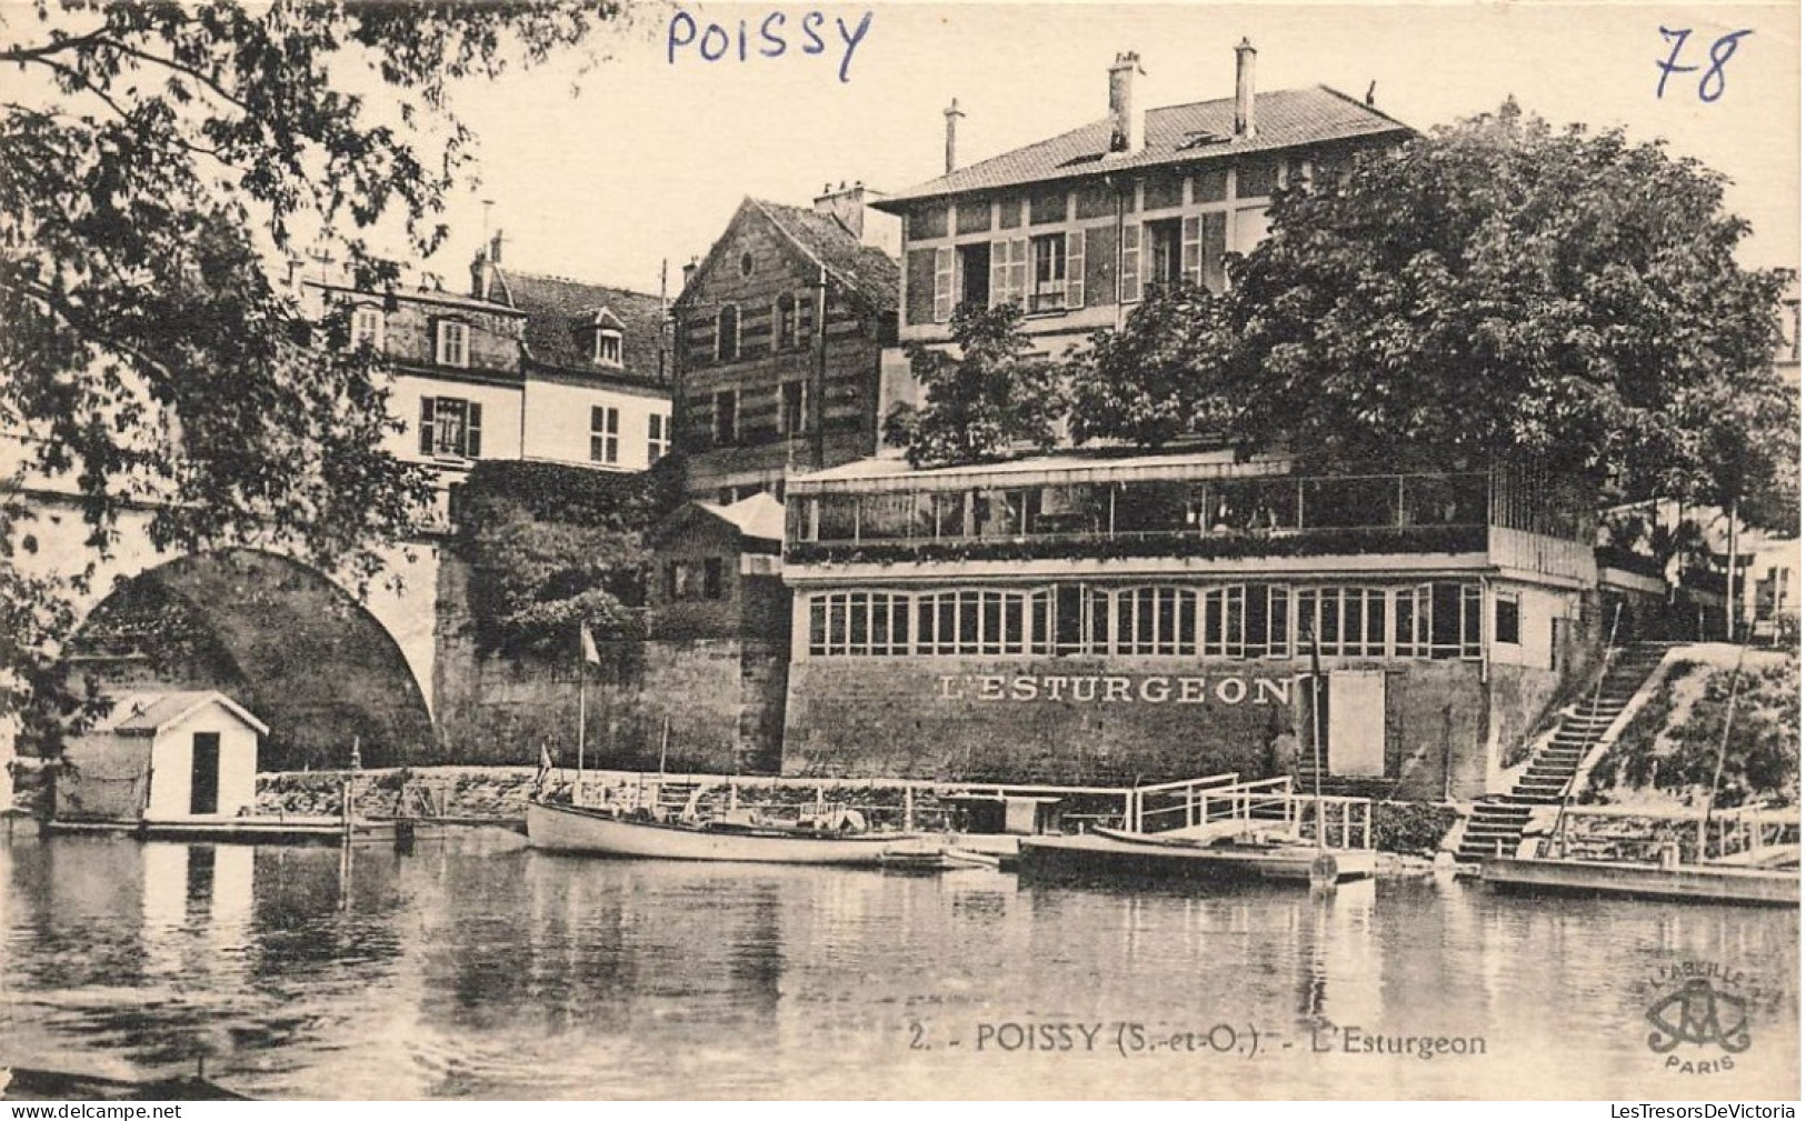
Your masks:
{"label": "dark tiled roof with dormer on the white house at left", "polygon": [[[542,366],[605,374],[627,381],[656,383],[659,379],[659,347],[665,338],[665,312],[659,298],[598,283],[582,283],[563,276],[536,276],[498,267],[500,283],[491,289],[491,300],[527,314],[527,359]],[[587,332],[596,314],[607,310],[621,329],[623,366],[601,366],[594,361],[594,343]]]}

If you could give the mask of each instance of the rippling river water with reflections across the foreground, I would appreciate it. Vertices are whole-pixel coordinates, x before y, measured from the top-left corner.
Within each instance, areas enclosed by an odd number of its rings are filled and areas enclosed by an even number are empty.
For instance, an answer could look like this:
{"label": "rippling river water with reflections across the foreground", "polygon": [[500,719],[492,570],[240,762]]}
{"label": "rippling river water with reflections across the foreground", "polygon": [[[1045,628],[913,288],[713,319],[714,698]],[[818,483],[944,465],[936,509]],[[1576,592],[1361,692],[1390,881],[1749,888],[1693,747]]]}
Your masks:
{"label": "rippling river water with reflections across the foreground", "polygon": [[[56,838],[0,928],[0,1065],[258,1098],[1799,1094],[1797,912]],[[1746,1051],[1651,1049],[1683,962]]]}

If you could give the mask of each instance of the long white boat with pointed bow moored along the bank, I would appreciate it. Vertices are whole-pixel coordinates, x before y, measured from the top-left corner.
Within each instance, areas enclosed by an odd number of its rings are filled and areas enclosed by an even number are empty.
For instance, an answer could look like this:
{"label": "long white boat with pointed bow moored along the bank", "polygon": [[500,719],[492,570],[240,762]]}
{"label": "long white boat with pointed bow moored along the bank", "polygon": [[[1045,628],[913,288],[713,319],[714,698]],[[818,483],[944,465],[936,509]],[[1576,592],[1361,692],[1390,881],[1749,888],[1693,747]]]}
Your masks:
{"label": "long white boat with pointed bow moored along the bank", "polygon": [[791,825],[645,821],[610,811],[527,803],[527,843],[549,852],[670,861],[883,866],[885,850],[919,839],[908,832],[840,832]]}

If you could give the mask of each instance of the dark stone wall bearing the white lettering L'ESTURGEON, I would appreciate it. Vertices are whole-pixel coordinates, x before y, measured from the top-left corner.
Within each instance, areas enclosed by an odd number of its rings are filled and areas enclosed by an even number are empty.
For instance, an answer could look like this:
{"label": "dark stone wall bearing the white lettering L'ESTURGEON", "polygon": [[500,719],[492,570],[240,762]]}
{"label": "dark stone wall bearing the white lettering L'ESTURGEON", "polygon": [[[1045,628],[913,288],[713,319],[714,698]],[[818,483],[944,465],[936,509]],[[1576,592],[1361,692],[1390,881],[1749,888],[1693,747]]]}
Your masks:
{"label": "dark stone wall bearing the white lettering L'ESTURGEON", "polygon": [[[1477,662],[1385,668],[1385,773],[1405,798],[1486,782]],[[1125,783],[1273,773],[1273,742],[1309,746],[1308,664],[1190,659],[811,659],[789,672],[786,774]],[[1058,684],[1055,684],[1058,682]]]}

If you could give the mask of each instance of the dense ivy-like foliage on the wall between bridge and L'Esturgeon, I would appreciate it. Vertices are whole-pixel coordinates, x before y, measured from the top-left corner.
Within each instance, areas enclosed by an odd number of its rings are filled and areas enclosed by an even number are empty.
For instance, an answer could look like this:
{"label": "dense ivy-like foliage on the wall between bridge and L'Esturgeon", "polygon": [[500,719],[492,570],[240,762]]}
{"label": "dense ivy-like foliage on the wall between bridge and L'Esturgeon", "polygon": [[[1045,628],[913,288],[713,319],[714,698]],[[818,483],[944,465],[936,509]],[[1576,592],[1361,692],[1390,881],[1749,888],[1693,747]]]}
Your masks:
{"label": "dense ivy-like foliage on the wall between bridge and L'Esturgeon", "polygon": [[486,460],[459,489],[457,543],[471,563],[479,653],[578,652],[638,635],[647,538],[683,498],[675,460],[647,473]]}

